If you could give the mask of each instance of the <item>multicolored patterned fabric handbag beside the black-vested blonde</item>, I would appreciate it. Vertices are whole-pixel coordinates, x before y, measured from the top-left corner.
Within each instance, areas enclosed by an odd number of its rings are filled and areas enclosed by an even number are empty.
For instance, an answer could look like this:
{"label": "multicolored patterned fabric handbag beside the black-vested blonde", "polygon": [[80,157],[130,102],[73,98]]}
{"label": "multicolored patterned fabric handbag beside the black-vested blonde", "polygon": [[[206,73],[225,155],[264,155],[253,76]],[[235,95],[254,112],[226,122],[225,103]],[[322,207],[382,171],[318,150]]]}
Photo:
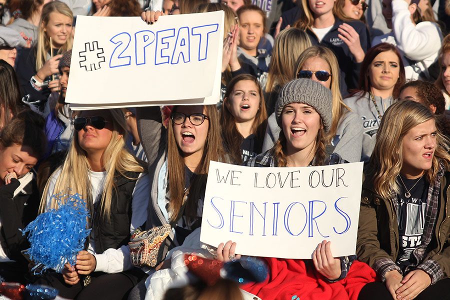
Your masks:
{"label": "multicolored patterned fabric handbag beside the black-vested blonde", "polygon": [[134,230],[128,242],[131,263],[134,266],[155,267],[160,260],[159,248],[169,235],[171,228],[170,224],[164,224],[145,231],[139,228]]}

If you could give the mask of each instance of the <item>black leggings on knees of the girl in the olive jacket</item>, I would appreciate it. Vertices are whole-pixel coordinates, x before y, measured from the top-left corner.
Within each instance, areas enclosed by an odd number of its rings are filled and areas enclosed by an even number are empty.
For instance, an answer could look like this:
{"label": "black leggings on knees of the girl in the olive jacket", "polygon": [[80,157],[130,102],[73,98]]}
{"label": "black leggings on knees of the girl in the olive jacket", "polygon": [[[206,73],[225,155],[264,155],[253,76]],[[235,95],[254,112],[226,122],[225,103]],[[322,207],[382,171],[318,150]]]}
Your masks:
{"label": "black leggings on knees of the girl in the olive jacket", "polygon": [[[386,285],[380,281],[370,282],[364,285],[359,292],[358,300],[392,299]],[[450,278],[437,281],[425,288],[415,297],[416,300],[448,300],[450,299]]]}

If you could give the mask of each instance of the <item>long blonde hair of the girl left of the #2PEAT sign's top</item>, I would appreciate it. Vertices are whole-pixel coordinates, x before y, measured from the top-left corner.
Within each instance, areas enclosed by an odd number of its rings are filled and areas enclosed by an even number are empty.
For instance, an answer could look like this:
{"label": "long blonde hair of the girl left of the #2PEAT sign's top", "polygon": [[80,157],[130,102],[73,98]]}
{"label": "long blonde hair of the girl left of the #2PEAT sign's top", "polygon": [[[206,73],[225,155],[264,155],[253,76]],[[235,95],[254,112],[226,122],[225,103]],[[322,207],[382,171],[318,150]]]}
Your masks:
{"label": "long blonde hair of the girl left of the #2PEAT sign's top", "polygon": [[[37,43],[36,43],[36,71],[39,70],[42,65],[44,65],[47,60],[48,51],[52,51],[50,49],[50,39],[44,31],[45,26],[48,24],[50,19],[50,13],[56,12],[68,16],[73,21],[73,14],[67,4],[55,0],[52,2],[48,2],[42,7],[42,14],[40,16],[39,23],[39,32],[37,33]],[[69,34],[67,36],[67,40],[62,47],[59,48],[58,54],[65,52],[72,48],[72,36]]]}

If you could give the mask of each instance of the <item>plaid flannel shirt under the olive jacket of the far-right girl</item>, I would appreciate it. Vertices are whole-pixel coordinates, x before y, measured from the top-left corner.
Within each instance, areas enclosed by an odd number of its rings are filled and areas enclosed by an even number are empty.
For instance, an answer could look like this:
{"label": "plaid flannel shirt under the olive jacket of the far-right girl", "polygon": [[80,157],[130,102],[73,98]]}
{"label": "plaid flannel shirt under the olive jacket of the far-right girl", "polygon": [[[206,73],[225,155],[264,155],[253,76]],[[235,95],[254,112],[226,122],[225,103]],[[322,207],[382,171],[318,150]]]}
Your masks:
{"label": "plaid flannel shirt under the olive jacket of the far-right girl", "polygon": [[[443,167],[443,164],[440,164],[436,179],[432,184],[429,185],[425,207],[425,223],[423,226],[423,233],[421,236],[422,243],[420,244],[420,246],[418,246],[412,251],[412,254],[414,255],[416,262],[411,265],[408,265],[405,269],[405,273],[413,269],[421,269],[425,271],[431,277],[431,284],[434,284],[440,279],[442,279],[444,275],[439,264],[434,260],[427,259],[425,261],[422,261],[425,258],[426,255],[425,250],[429,242],[431,241],[431,238],[433,236],[433,228],[436,225],[437,221],[440,178],[444,175],[444,172],[445,168]],[[390,201],[392,201],[392,203],[394,204],[395,214],[397,215],[398,218],[397,195],[396,194],[393,195]],[[385,280],[384,275],[388,271],[397,270],[400,274],[402,273],[401,269],[390,258],[379,259],[378,261],[375,262],[373,268],[378,274],[381,274],[381,278],[383,281]]]}

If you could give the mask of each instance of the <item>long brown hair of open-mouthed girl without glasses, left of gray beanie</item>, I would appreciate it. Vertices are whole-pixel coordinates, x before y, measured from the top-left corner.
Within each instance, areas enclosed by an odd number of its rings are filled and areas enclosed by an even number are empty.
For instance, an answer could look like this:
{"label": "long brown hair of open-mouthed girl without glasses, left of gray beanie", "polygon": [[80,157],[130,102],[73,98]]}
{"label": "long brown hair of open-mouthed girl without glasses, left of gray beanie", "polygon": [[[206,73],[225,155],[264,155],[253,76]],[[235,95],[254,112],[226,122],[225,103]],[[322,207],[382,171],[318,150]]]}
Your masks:
{"label": "long brown hair of open-mouthed girl without glasses, left of gray beanie", "polygon": [[[259,93],[259,106],[256,116],[251,126],[251,132],[256,135],[256,140],[262,143],[265,129],[267,127],[267,111],[265,110],[264,95],[262,94],[262,88],[258,83],[258,80],[250,74],[240,74],[231,79],[229,82],[225,96],[223,98],[222,113],[220,116],[220,125],[222,126],[222,136],[227,153],[230,155],[230,159],[233,163],[241,164],[242,157],[240,154],[240,144],[244,137],[239,133],[236,127],[234,116],[229,111],[228,99],[232,93],[234,86],[241,80],[252,81]],[[262,145],[262,144],[261,144]]]}

